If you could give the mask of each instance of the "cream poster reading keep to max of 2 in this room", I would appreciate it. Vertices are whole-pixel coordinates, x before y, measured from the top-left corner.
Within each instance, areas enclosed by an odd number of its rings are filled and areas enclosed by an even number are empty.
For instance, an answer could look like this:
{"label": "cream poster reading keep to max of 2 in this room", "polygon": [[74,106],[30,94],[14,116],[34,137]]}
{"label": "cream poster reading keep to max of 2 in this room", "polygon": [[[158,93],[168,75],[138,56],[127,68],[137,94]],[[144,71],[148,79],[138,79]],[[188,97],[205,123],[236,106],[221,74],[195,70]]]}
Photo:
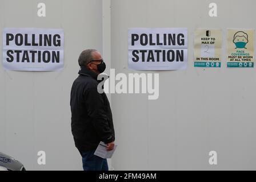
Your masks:
{"label": "cream poster reading keep to max of 2 in this room", "polygon": [[194,35],[194,67],[221,67],[221,30],[197,29]]}

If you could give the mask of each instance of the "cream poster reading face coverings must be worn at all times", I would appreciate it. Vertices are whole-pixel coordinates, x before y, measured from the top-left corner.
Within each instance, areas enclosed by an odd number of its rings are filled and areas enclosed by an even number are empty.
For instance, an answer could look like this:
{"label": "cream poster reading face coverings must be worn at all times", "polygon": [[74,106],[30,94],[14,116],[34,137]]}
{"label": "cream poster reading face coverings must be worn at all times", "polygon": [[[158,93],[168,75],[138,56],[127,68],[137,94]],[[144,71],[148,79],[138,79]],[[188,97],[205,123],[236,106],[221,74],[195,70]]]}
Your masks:
{"label": "cream poster reading face coverings must be worn at all times", "polygon": [[227,68],[254,67],[254,30],[227,30]]}

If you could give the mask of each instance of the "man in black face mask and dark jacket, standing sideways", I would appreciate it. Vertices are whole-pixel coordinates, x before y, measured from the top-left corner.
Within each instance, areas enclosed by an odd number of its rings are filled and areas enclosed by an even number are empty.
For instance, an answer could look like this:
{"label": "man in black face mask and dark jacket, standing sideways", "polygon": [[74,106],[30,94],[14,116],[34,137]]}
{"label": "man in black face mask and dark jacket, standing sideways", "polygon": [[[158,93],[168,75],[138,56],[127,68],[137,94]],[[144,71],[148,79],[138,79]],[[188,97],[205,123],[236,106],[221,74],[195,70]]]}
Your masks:
{"label": "man in black face mask and dark jacket, standing sideways", "polygon": [[106,65],[95,49],[87,49],[78,59],[79,76],[73,82],[70,95],[71,130],[75,146],[82,155],[83,170],[108,171],[107,160],[94,155],[99,142],[113,150],[115,132],[109,100],[97,90],[99,73]]}

